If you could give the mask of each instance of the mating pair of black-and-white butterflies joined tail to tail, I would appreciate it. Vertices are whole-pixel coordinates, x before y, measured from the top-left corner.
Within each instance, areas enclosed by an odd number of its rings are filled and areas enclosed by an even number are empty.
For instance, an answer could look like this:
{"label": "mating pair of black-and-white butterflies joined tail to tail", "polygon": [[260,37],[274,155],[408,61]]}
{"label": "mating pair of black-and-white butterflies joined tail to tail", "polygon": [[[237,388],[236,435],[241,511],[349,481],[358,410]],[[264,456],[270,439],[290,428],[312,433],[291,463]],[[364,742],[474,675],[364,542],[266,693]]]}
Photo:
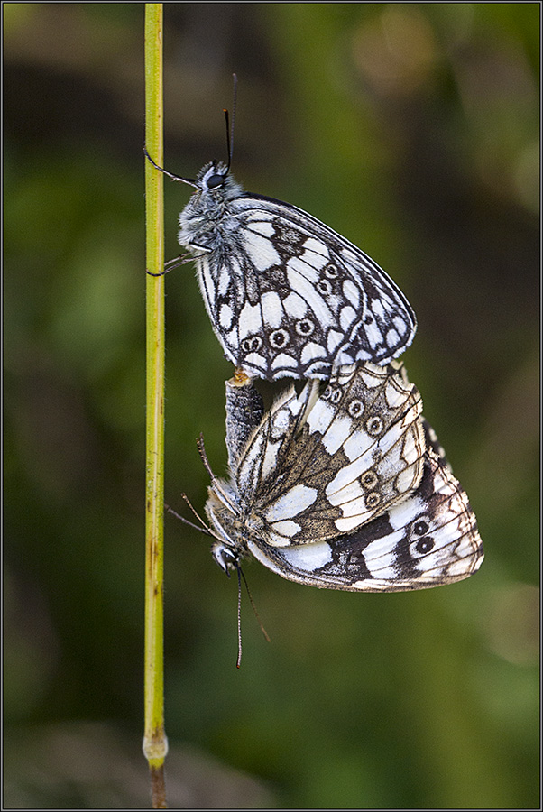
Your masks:
{"label": "mating pair of black-and-white butterflies joined tail to tail", "polygon": [[[196,189],[179,216],[180,261],[195,260],[238,370],[226,384],[231,476],[212,475],[206,505],[217,563],[239,572],[251,553],[290,580],[361,591],[471,575],[483,560],[474,513],[391,363],[417,326],[400,289],[315,217],[244,193],[225,164],[196,180],[165,173]],[[247,375],[311,380],[264,413]]]}

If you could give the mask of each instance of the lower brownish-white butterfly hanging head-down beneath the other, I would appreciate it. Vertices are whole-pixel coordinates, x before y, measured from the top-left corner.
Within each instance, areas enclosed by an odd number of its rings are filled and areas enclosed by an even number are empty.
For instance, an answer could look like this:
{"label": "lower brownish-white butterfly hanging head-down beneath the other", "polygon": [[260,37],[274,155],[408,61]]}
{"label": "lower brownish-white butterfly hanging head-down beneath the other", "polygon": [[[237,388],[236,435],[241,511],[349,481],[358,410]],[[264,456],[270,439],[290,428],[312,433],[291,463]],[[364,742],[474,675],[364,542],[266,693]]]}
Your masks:
{"label": "lower brownish-white butterfly hanging head-down beneath the other", "polygon": [[474,512],[399,364],[341,367],[322,393],[290,386],[262,419],[246,408],[252,388],[226,385],[230,479],[207,464],[212,554],[227,574],[253,555],[301,584],[376,592],[480,567]]}

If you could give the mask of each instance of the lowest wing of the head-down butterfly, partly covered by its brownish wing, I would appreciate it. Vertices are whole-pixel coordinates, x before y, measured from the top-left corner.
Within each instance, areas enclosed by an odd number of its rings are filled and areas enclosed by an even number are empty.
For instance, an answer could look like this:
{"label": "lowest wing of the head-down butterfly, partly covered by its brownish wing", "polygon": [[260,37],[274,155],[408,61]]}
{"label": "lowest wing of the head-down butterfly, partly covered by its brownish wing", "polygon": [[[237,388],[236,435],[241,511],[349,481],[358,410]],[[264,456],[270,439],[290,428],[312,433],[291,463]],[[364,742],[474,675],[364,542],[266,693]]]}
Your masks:
{"label": "lowest wing of the head-down butterfly, partly covered by its brownish wing", "polygon": [[251,539],[248,549],[291,581],[352,592],[451,584],[483,562],[483,542],[467,495],[431,449],[416,492],[357,531],[284,548]]}

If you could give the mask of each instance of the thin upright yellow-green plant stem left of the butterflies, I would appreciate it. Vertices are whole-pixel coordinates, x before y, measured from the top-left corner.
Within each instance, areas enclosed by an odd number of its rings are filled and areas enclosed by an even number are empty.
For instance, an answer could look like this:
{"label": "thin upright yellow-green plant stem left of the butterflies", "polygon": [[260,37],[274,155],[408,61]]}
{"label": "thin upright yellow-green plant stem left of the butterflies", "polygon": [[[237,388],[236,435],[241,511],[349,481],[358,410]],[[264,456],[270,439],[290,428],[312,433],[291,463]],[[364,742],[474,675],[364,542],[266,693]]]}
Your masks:
{"label": "thin upright yellow-green plant stem left of the butterflies", "polygon": [[[162,163],[162,4],[145,4],[145,145]],[[164,265],[161,172],[145,161],[146,264]],[[151,772],[152,808],[165,808],[163,632],[164,514],[164,277],[147,275],[147,394],[145,468],[145,730],[143,753]]]}

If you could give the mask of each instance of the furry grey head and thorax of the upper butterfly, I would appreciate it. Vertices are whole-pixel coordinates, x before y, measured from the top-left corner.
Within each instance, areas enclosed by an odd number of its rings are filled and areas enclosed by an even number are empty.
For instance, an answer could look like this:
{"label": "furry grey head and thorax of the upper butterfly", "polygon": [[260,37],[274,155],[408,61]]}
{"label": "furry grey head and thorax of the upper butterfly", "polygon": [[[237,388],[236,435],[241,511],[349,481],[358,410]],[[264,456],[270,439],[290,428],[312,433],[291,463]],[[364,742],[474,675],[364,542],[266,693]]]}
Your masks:
{"label": "furry grey head and thorax of the upper butterfly", "polygon": [[239,230],[229,204],[243,193],[242,186],[227,173],[224,163],[215,161],[198,172],[195,184],[197,190],[179,215],[179,244],[220,252],[225,244],[232,245]]}

